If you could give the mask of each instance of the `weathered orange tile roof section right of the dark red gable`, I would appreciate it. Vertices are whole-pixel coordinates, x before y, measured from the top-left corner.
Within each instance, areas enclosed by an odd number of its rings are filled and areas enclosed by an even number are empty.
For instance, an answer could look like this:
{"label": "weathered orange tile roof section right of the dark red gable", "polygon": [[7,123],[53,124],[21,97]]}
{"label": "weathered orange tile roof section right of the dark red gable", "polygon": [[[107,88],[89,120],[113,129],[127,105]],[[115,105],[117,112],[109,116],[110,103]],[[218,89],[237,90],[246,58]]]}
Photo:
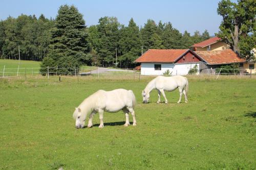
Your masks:
{"label": "weathered orange tile roof section right of the dark red gable", "polygon": [[239,58],[231,49],[218,51],[196,51],[204,61],[209,65],[215,64],[231,64],[245,62],[245,59]]}

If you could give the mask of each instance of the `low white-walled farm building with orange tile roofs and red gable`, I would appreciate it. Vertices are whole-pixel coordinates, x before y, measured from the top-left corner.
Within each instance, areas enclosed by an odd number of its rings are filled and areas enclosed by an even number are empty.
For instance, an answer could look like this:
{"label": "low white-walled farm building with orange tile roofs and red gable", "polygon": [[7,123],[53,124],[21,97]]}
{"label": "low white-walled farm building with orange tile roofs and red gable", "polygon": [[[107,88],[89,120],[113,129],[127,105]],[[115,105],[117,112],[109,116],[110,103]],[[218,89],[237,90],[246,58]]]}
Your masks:
{"label": "low white-walled farm building with orange tile roofs and red gable", "polygon": [[191,51],[157,50],[146,51],[137,60],[141,63],[141,75],[163,75],[169,70],[172,75],[187,75],[197,65],[198,72],[209,72],[224,64],[244,63],[232,50]]}

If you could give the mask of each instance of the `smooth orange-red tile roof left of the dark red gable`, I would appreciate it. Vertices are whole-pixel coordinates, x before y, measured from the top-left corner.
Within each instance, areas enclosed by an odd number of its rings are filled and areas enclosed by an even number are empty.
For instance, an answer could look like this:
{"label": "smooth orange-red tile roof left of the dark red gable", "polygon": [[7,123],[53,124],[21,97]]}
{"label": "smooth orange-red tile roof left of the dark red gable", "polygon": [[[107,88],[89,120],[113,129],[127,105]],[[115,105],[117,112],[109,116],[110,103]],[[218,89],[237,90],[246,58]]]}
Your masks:
{"label": "smooth orange-red tile roof left of the dark red gable", "polygon": [[160,63],[173,63],[176,59],[181,57],[189,49],[177,49],[177,50],[158,50],[150,49],[146,51],[142,56],[140,56],[135,62],[138,63],[150,63],[150,62],[160,62]]}

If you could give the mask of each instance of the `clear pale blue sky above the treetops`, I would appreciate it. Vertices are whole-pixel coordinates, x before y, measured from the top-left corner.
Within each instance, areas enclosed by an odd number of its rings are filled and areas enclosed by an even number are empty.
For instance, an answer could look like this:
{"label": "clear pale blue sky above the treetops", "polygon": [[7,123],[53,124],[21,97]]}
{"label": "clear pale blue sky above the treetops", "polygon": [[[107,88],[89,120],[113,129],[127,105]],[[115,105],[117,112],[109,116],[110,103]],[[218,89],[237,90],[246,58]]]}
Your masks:
{"label": "clear pale blue sky above the treetops", "polygon": [[1,0],[0,19],[6,19],[9,15],[17,17],[20,14],[37,17],[42,13],[47,18],[55,18],[60,5],[75,5],[83,14],[86,25],[96,25],[98,19],[103,16],[116,16],[119,22],[127,25],[131,17],[137,25],[144,26],[147,19],[153,19],[157,23],[170,21],[173,27],[181,33],[187,30],[194,34],[196,30],[202,33],[205,29],[210,35],[219,30],[222,20],[217,14],[219,0],[91,0],[91,1],[6,1]]}

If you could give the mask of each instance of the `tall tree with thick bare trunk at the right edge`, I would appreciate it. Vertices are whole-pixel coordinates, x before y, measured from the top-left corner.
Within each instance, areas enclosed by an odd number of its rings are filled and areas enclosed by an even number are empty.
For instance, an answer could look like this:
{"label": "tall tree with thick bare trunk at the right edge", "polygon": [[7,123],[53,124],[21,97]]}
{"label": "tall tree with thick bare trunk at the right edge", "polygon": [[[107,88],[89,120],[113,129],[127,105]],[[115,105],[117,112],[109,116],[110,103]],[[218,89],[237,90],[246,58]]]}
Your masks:
{"label": "tall tree with thick bare trunk at the right edge", "polygon": [[[223,20],[220,25],[220,31],[217,34],[232,50],[238,54],[248,54],[248,52],[241,52],[240,47],[244,46],[240,43],[245,43],[245,39],[249,38],[249,33],[254,34],[255,15],[256,15],[256,1],[254,0],[238,0],[238,4],[230,0],[222,0],[218,4],[217,12],[222,16]],[[255,46],[255,41],[246,49],[252,49]],[[243,47],[242,47],[243,48]],[[245,50],[245,48],[243,48]]]}

